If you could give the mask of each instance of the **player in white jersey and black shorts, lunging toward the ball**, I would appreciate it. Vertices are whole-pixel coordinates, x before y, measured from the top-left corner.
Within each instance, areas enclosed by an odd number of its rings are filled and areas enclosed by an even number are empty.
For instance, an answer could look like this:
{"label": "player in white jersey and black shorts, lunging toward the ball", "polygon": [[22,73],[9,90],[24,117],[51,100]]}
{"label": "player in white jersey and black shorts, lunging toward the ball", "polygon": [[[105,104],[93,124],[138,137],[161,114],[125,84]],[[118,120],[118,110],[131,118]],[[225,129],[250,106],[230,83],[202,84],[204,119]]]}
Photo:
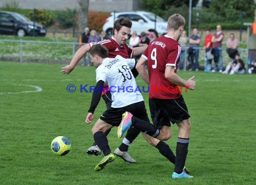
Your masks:
{"label": "player in white jersey and black shorts, lunging toward the ball", "polygon": [[[95,170],[99,171],[105,167],[107,163],[115,159],[115,156],[110,151],[104,132],[113,126],[118,126],[122,120],[122,114],[125,111],[131,111],[132,114],[146,121],[146,123],[149,123],[149,118],[146,113],[141,93],[138,91],[130,91],[131,88],[137,88],[134,76],[130,70],[130,67],[134,67],[135,60],[124,59],[121,56],[116,56],[114,59],[108,58],[107,49],[101,44],[93,45],[89,49],[89,56],[91,58],[91,62],[97,67],[97,84],[96,89],[93,92],[91,106],[85,120],[86,123],[92,123],[93,121],[93,112],[100,101],[103,85],[106,82],[110,87],[113,99],[111,107],[102,114],[92,129],[94,140],[105,155],[105,157],[95,167]],[[112,89],[113,86],[115,86],[114,89]],[[129,90],[127,90],[128,87]],[[174,161],[171,162],[175,163],[175,155],[166,143],[150,137],[147,134],[143,134],[143,136],[147,141],[150,140],[151,142],[154,142],[156,148],[159,149],[159,152],[169,160],[170,158],[174,159]],[[185,167],[184,170],[186,170]]]}

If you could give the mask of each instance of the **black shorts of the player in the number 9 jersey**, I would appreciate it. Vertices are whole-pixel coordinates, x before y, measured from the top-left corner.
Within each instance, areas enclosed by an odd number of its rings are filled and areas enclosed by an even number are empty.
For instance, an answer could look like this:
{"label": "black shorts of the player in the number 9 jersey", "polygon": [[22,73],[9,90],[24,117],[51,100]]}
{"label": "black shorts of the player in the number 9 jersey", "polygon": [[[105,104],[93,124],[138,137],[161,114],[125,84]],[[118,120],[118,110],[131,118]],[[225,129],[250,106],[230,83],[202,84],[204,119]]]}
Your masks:
{"label": "black shorts of the player in the number 9 jersey", "polygon": [[171,126],[170,121],[174,124],[190,118],[182,96],[177,99],[149,99],[149,105],[155,128]]}

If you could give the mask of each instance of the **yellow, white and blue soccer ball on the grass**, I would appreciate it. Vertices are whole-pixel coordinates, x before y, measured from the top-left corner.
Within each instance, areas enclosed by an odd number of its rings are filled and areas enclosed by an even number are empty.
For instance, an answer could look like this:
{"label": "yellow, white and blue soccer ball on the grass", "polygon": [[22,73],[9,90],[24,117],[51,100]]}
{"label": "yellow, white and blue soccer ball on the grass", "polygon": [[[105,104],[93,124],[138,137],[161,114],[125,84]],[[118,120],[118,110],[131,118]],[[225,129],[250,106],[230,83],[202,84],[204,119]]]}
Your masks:
{"label": "yellow, white and blue soccer ball on the grass", "polygon": [[51,148],[54,154],[66,155],[71,149],[71,143],[66,137],[58,136],[53,139]]}

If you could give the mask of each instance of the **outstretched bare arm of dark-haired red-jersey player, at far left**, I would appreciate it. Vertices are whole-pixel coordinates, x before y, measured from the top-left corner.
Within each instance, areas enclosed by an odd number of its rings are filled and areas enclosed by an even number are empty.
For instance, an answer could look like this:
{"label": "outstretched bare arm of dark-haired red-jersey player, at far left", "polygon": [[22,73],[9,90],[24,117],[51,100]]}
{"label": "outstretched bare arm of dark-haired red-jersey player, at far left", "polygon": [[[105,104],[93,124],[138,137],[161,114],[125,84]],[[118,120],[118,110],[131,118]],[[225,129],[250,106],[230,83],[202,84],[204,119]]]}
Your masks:
{"label": "outstretched bare arm of dark-haired red-jersey player, at far left", "polygon": [[82,57],[84,57],[85,53],[89,50],[90,46],[89,44],[85,44],[81,46],[76,52],[74,57],[72,58],[69,65],[62,67],[61,72],[63,74],[70,74],[71,71],[75,68],[77,63],[81,60]]}

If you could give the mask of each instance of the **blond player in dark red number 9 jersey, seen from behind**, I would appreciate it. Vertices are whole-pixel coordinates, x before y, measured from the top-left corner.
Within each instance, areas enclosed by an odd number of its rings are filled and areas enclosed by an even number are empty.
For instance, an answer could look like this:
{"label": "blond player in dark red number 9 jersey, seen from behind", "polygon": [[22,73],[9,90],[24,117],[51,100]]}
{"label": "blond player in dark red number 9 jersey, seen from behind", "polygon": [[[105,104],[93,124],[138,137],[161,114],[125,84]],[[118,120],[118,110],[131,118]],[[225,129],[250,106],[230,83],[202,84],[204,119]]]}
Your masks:
{"label": "blond player in dark red number 9 jersey, seen from behind", "polygon": [[[194,76],[188,80],[177,75],[180,60],[181,46],[178,43],[185,26],[185,18],[174,14],[168,19],[168,33],[155,39],[146,48],[139,59],[136,69],[147,84],[157,87],[186,86],[190,90],[195,87]],[[145,66],[148,66],[148,73]],[[149,91],[150,114],[154,126],[137,119],[129,112],[123,115],[123,121],[118,129],[121,137],[125,129],[134,127],[146,132],[159,140],[168,140],[171,137],[171,124],[176,123],[179,134],[176,147],[176,162],[172,178],[190,178],[192,176],[183,172],[188,153],[190,137],[190,115],[180,91],[168,89]]]}

